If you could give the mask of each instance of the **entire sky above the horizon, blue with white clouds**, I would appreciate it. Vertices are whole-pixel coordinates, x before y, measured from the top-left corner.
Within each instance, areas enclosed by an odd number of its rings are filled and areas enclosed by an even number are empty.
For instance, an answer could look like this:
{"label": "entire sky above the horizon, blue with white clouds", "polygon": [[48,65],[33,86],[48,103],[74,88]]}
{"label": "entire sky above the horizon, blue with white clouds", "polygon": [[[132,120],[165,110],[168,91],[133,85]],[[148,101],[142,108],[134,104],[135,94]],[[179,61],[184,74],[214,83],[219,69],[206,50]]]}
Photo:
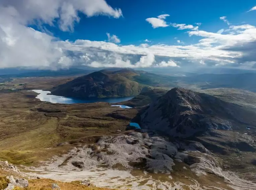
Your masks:
{"label": "entire sky above the horizon, blue with white clouds", "polygon": [[255,0],[0,0],[0,68],[256,69]]}

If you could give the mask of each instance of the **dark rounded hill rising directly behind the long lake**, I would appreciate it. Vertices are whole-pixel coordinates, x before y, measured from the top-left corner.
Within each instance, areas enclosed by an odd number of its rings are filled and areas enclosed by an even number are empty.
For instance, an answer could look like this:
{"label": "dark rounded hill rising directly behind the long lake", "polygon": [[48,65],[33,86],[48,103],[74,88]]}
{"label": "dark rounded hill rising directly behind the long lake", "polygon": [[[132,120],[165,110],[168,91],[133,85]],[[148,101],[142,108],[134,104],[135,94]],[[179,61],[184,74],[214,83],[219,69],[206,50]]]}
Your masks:
{"label": "dark rounded hill rising directly behind the long lake", "polygon": [[130,78],[137,73],[124,69],[101,70],[78,77],[52,90],[52,94],[76,98],[102,98],[138,95],[143,85]]}

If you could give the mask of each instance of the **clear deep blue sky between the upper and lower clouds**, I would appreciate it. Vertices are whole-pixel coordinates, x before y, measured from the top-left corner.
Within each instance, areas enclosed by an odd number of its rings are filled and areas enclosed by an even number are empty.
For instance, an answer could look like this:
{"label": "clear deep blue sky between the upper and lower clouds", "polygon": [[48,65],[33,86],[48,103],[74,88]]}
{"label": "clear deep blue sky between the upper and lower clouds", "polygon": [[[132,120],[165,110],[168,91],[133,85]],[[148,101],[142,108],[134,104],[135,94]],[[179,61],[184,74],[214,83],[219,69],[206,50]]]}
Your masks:
{"label": "clear deep blue sky between the upper and lower clouds", "polygon": [[[231,23],[256,25],[254,12],[247,12],[254,5],[254,0],[246,0],[241,3],[238,0],[215,0],[215,1],[171,1],[171,0],[107,0],[113,8],[120,8],[123,17],[119,19],[108,16],[87,17],[80,14],[80,22],[75,25],[74,32],[63,32],[56,25],[47,28],[62,40],[75,41],[87,39],[92,41],[104,41],[106,33],[117,35],[121,43],[140,44],[149,39],[153,43],[172,44],[177,40],[174,37],[190,44],[194,43],[193,37],[189,38],[186,31],[177,30],[173,27],[153,29],[145,22],[146,18],[156,17],[161,14],[169,14],[166,22],[171,23],[202,23],[200,28],[209,32],[217,32],[221,28],[228,29],[226,23],[219,18],[227,16]],[[37,28],[36,26],[33,26]]]}

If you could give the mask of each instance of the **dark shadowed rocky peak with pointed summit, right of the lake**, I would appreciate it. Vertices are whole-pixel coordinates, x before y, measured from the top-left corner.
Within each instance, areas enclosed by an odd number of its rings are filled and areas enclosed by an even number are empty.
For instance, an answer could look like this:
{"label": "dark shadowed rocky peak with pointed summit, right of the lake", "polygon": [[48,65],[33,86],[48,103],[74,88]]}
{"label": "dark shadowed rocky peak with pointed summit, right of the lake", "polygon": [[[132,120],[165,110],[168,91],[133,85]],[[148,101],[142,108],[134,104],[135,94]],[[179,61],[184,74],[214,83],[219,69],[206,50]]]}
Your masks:
{"label": "dark shadowed rocky peak with pointed summit, right of the lake", "polygon": [[215,96],[173,88],[140,115],[143,129],[186,138],[209,130],[256,126],[256,112]]}

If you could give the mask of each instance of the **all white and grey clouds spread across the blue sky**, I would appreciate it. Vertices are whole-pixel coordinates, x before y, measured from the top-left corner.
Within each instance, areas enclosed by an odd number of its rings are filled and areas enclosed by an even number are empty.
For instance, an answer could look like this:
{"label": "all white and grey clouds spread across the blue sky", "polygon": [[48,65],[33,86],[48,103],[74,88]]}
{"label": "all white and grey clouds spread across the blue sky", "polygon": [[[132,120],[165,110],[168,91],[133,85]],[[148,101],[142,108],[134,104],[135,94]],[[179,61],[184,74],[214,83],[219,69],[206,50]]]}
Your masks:
{"label": "all white and grey clouds spread across the blue sky", "polygon": [[[229,25],[217,33],[200,30],[198,26],[165,22],[169,15],[150,20],[153,28],[173,26],[199,41],[185,45],[143,43],[121,45],[121,40],[107,33],[108,41],[61,41],[48,33],[28,27],[28,24],[48,23],[61,30],[73,30],[81,11],[88,17],[122,16],[120,9],[110,7],[104,0],[2,0],[0,1],[0,68],[30,66],[35,68],[90,67],[196,67],[239,66],[256,68],[256,27]],[[161,21],[159,21],[161,20]],[[226,20],[226,17],[222,19]],[[153,30],[153,29],[152,29]],[[150,42],[149,40],[145,40]]]}

